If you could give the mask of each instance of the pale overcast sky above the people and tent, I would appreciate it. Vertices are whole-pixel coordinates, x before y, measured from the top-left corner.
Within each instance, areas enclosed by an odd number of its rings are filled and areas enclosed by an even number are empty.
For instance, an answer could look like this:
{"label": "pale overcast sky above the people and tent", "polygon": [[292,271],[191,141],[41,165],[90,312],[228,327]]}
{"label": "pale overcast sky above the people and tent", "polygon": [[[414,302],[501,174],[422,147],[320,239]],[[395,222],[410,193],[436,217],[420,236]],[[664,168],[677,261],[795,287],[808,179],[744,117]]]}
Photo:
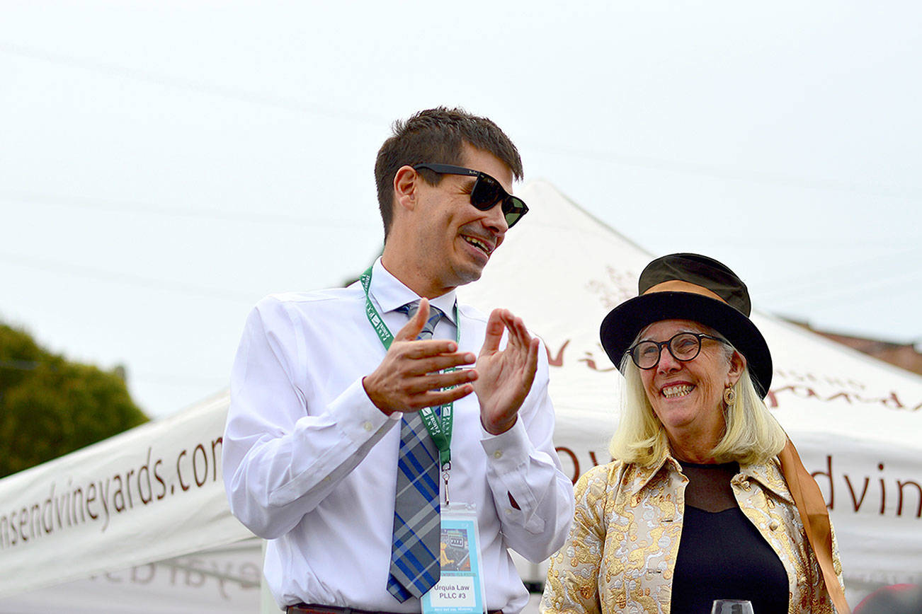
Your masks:
{"label": "pale overcast sky above the people and tent", "polygon": [[372,261],[375,153],[440,104],[491,117],[526,180],[645,249],[725,261],[756,308],[922,341],[916,2],[0,0],[0,16],[0,319],[125,365],[152,416],[226,387],[261,296]]}

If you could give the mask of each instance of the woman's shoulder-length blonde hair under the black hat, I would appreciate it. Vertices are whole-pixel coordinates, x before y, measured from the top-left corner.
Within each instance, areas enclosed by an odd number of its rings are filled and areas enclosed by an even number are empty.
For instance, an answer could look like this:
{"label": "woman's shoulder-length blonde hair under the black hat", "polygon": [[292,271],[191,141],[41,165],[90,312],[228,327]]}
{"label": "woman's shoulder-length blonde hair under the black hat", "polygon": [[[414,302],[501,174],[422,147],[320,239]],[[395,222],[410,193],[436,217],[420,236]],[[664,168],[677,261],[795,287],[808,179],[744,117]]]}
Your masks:
{"label": "woman's shoulder-length blonde hair under the black hat", "polygon": [[[640,334],[637,335],[638,339]],[[636,340],[635,340],[636,342]],[[727,361],[735,349],[727,343]],[[630,354],[621,359],[624,374],[621,389],[621,420],[611,438],[611,457],[624,462],[649,467],[669,453],[666,428],[653,411],[646,397],[640,368]],[[777,456],[784,448],[787,435],[752,384],[747,365],[733,386],[737,400],[724,406],[725,430],[711,450],[718,463],[736,461],[741,464],[762,463]]]}

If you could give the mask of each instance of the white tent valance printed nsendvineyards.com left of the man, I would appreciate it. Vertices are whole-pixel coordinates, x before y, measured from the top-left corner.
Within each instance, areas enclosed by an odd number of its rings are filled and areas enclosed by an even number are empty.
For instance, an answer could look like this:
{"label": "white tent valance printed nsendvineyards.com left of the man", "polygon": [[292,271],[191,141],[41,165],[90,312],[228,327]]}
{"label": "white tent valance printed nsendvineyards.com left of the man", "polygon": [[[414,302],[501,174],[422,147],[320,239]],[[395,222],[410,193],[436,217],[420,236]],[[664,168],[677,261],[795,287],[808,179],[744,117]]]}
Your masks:
{"label": "white tent valance printed nsendvineyards.com left of the man", "polygon": [[0,597],[251,534],[221,481],[227,397],[0,481]]}

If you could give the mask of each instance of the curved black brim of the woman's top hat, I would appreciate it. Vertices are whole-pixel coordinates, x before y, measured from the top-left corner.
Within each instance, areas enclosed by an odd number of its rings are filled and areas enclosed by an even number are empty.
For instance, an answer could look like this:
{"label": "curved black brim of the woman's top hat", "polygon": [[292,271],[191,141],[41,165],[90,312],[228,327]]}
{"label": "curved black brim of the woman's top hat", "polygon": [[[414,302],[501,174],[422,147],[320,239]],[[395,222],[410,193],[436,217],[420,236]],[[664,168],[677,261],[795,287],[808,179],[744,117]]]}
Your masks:
{"label": "curved black brim of the woman's top hat", "polygon": [[743,354],[756,390],[762,395],[772,385],[772,354],[752,320],[726,303],[690,292],[654,292],[621,303],[609,311],[599,328],[602,347],[621,368],[621,358],[637,333],[661,319],[689,319],[723,335]]}

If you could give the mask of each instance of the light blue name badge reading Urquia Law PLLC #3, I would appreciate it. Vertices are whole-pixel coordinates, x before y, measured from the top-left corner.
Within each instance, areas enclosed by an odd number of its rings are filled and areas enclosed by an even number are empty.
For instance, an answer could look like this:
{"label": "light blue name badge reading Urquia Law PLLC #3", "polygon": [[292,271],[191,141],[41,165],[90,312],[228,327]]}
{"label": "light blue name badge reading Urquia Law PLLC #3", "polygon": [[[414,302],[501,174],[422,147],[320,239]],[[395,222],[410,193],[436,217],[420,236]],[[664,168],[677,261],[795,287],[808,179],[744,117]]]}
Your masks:
{"label": "light blue name badge reading Urquia Law PLLC #3", "polygon": [[483,573],[477,508],[471,504],[442,507],[442,574],[422,596],[423,614],[483,614]]}

